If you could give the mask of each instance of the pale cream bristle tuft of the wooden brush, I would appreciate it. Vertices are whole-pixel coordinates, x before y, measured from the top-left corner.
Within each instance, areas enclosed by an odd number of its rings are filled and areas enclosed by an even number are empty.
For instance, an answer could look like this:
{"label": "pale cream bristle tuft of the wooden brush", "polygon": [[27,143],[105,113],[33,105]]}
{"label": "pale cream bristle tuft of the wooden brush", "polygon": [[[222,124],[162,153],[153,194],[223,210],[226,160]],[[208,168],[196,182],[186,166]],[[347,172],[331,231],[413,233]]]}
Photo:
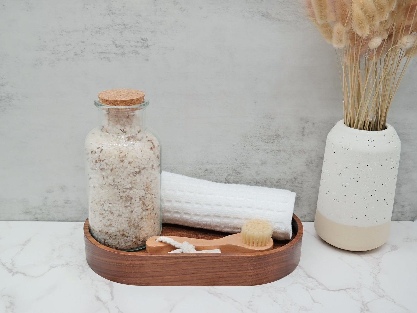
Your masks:
{"label": "pale cream bristle tuft of the wooden brush", "polygon": [[272,237],[274,229],[269,222],[250,220],[242,226],[241,240],[249,246],[263,247]]}

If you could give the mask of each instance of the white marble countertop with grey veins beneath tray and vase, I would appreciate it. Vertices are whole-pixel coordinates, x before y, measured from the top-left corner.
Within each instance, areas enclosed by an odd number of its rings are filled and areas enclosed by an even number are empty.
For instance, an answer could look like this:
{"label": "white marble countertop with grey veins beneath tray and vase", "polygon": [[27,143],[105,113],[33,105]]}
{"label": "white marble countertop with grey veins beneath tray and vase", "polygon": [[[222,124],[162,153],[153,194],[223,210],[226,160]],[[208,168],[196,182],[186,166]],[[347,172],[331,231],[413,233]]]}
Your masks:
{"label": "white marble countertop with grey veins beneath tray and vase", "polygon": [[244,287],[146,287],[101,278],[85,261],[82,222],[0,222],[0,312],[417,312],[417,222],[348,252],[305,222],[299,266]]}

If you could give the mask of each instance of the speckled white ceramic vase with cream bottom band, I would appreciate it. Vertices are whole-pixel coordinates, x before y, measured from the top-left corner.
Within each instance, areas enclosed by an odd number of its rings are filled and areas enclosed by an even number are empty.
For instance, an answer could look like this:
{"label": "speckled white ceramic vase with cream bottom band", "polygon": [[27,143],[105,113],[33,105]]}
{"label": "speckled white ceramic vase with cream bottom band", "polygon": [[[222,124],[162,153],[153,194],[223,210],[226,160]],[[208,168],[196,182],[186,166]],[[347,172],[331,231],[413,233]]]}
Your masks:
{"label": "speckled white ceramic vase with cream bottom band", "polygon": [[314,227],[323,240],[365,251],[389,236],[401,141],[383,131],[353,129],[339,121],[327,136]]}

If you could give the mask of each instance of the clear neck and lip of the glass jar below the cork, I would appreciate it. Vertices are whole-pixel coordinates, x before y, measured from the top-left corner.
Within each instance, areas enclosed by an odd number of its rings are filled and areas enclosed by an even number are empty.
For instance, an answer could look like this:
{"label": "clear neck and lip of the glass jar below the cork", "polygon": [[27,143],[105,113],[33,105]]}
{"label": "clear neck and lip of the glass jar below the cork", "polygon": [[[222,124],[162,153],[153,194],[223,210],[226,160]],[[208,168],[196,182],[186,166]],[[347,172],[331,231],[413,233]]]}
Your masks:
{"label": "clear neck and lip of the glass jar below the cork", "polygon": [[113,135],[134,135],[146,129],[146,106],[107,106],[94,102],[99,112],[100,130]]}

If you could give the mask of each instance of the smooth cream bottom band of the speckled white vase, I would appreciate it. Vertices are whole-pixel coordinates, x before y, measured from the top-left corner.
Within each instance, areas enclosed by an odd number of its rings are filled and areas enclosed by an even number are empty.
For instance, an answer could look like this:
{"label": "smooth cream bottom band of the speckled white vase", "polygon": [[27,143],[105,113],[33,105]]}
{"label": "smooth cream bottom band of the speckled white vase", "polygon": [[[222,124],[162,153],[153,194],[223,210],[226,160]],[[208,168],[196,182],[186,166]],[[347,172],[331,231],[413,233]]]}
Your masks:
{"label": "smooth cream bottom band of the speckled white vase", "polygon": [[367,251],[382,246],[388,239],[391,221],[382,225],[357,227],[333,222],[316,210],[314,228],[330,245],[349,251]]}

